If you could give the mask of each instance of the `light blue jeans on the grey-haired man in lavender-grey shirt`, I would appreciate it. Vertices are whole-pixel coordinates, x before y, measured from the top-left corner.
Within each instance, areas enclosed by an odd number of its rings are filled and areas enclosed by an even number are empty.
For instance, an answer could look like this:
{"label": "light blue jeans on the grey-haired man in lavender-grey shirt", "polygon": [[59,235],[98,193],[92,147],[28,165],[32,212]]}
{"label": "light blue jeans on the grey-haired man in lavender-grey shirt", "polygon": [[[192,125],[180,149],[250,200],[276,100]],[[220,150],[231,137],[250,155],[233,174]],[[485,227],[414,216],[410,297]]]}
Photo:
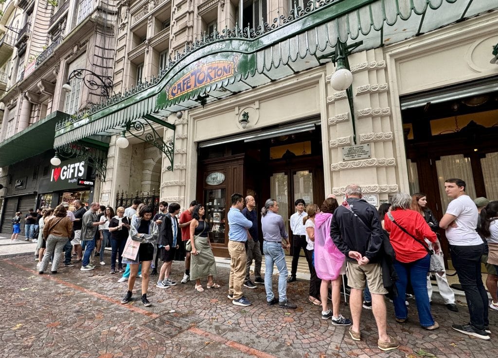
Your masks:
{"label": "light blue jeans on the grey-haired man in lavender-grey shirt", "polygon": [[287,263],[285,262],[285,254],[282,249],[282,244],[263,242],[264,254],[264,289],[266,290],[266,301],[270,302],[275,296],[271,286],[271,275],[273,274],[273,264],[276,265],[278,276],[278,300],[280,302],[287,300]]}

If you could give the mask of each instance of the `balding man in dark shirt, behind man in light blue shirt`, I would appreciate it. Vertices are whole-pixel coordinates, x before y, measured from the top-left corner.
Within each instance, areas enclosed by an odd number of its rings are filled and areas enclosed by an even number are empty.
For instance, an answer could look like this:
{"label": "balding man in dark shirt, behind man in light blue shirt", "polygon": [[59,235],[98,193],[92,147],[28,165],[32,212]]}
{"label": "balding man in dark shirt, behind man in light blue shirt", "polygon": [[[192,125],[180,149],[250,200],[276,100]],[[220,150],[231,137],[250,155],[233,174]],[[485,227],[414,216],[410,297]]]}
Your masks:
{"label": "balding man in dark shirt, behind man in light blue shirt", "polygon": [[[242,214],[252,222],[252,227],[249,229],[248,241],[246,245],[247,267],[244,287],[247,288],[256,288],[254,283],[264,284],[264,280],[261,278],[262,257],[258,241],[257,213],[255,207],[256,201],[254,200],[254,197],[252,195],[246,196],[246,207],[242,210]],[[252,283],[249,276],[252,259],[254,259],[254,283]]]}

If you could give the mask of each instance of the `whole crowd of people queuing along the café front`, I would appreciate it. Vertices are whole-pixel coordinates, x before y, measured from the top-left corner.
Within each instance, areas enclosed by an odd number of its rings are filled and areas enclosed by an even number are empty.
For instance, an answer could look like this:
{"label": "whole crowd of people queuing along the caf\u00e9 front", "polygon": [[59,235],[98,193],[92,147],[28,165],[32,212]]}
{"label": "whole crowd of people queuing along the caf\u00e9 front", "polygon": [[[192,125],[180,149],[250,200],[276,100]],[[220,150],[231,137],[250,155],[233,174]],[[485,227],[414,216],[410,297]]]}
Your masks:
{"label": "whole crowd of people queuing along the caf\u00e9 front", "polygon": [[[444,229],[470,313],[470,323],[452,325],[452,328],[489,340],[488,305],[498,310],[498,201],[490,202],[482,197],[473,201],[466,195],[465,188],[466,183],[461,179],[445,181],[446,194],[452,200],[440,221],[427,207],[423,193],[412,196],[397,193],[390,203],[382,203],[378,209],[362,199],[361,186],[356,184],[346,187],[342,204],[332,194],[320,206],[306,205],[303,199],[298,199],[296,212],[290,217],[293,245],[290,275],[284,249],[288,250],[291,242],[283,218],[278,214],[278,202],[272,198],[266,200],[258,221],[254,197],[244,198],[235,193],[227,215],[231,257],[228,298],[234,305],[249,306],[251,302],[243,293],[244,287],[253,289],[256,284],[264,284],[267,305],[297,308],[287,298],[287,283],[296,280],[303,249],[310,271],[307,300],[321,306],[321,318],[331,319],[336,326],[351,326],[349,335],[360,341],[362,308],[371,309],[377,324],[378,348],[395,349],[399,343],[387,334],[385,296],[393,303],[395,321],[404,324],[409,308],[405,295],[410,289],[415,296],[420,326],[429,331],[438,329],[430,305],[432,271],[446,307],[458,311],[446,278],[438,238],[439,231]],[[175,286],[177,283],[170,277],[173,261],[185,262],[181,283],[195,281],[194,288],[198,292],[204,291],[203,279],[207,279],[207,289],[221,287],[214,280],[216,263],[208,238],[209,220],[202,203],[192,201],[179,215],[178,203],[168,205],[161,201],[160,211],[154,217],[152,208],[139,200],[126,209],[117,208],[116,215],[112,207],[100,206],[97,202],[93,202],[89,210],[79,200],[74,203],[74,212],[67,211],[68,203],[62,203],[55,210],[46,209],[41,213],[36,252],[40,274],[48,269],[50,262],[51,273],[57,273],[63,252],[66,267],[75,266],[72,255],[76,256],[76,262],[81,262],[82,271],[95,269],[91,263],[95,257],[104,266],[104,249],[110,240],[110,273],[123,272],[119,282],[127,281],[123,304],[132,299],[137,276],[142,278],[141,302],[146,307],[151,305],[147,299],[150,276],[158,276],[156,287],[160,289]],[[14,227],[14,234],[15,230]],[[264,278],[261,276],[263,256]],[[160,267],[159,260],[162,261]],[[487,281],[493,298],[491,303],[481,277],[482,261],[492,277]],[[250,279],[253,262],[254,281]],[[272,289],[274,266],[279,273],[276,295]],[[340,313],[341,286],[345,278],[351,289],[351,320]]]}

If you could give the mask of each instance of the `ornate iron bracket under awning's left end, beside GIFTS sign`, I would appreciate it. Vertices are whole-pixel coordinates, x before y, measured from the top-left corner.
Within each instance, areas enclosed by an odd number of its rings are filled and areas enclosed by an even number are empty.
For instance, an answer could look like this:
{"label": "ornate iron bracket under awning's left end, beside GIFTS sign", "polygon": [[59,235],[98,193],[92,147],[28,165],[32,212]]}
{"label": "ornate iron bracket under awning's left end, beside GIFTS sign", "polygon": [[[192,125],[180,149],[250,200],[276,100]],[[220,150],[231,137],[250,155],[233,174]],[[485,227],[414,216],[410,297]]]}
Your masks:
{"label": "ornate iron bracket under awning's left end, beside GIFTS sign", "polygon": [[77,158],[95,169],[99,174],[101,181],[106,181],[107,173],[107,152],[102,150],[86,147],[78,143],[66,144],[57,148],[60,157],[66,159]]}

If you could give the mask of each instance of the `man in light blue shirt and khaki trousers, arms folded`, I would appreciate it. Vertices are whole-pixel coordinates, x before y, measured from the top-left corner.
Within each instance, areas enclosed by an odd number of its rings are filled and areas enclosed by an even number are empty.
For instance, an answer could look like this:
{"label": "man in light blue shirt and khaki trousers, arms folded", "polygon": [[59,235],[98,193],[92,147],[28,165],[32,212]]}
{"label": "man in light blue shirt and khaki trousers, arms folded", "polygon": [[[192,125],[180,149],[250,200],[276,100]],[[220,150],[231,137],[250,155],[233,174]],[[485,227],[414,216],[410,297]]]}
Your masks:
{"label": "man in light blue shirt and khaki trousers, arms folded", "polygon": [[237,306],[250,306],[249,300],[242,292],[242,286],[246,279],[246,241],[248,240],[248,229],[252,222],[242,214],[244,197],[239,193],[232,194],[232,207],[228,212],[228,252],[230,254],[230,280],[228,287],[228,298]]}

